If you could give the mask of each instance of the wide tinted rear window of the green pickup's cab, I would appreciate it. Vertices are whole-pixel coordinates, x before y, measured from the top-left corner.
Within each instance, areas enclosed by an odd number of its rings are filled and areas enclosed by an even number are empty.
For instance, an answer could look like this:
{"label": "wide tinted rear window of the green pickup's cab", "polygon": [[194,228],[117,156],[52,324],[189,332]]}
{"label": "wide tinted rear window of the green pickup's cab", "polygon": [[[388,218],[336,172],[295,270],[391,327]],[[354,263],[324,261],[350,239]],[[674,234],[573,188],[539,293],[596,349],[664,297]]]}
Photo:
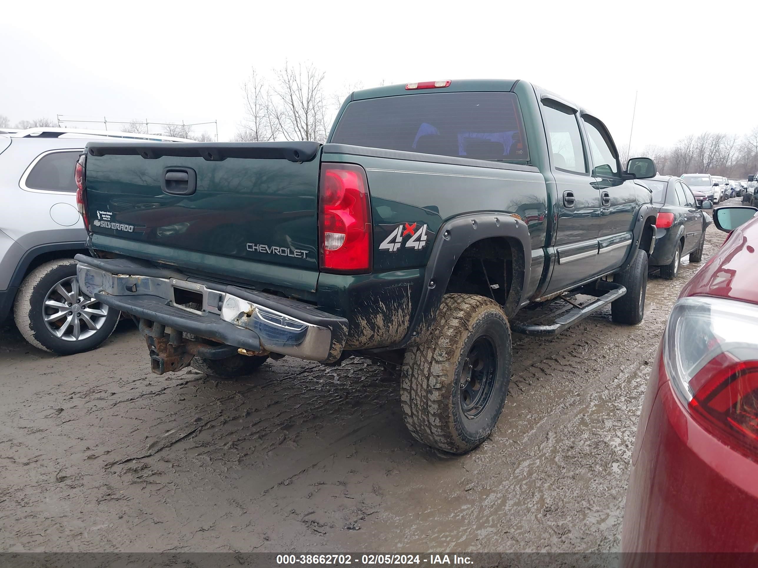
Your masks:
{"label": "wide tinted rear window of the green pickup's cab", "polygon": [[477,160],[529,160],[512,92],[433,92],[351,101],[330,142]]}

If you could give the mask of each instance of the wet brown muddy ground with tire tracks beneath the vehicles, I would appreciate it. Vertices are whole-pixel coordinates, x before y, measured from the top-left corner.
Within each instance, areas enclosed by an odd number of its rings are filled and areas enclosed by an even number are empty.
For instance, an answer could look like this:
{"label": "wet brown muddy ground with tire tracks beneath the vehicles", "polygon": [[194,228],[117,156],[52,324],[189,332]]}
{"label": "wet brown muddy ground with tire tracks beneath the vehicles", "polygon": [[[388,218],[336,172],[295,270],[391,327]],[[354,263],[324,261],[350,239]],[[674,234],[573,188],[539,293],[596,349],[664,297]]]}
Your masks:
{"label": "wet brown muddy ground with tire tracks beneath the vehicles", "polygon": [[[723,240],[711,226],[703,261]],[[0,550],[615,551],[650,364],[696,270],[651,276],[640,326],[607,309],[515,335],[503,416],[463,457],[415,442],[367,360],[155,376],[128,321],[72,357],[4,329]]]}

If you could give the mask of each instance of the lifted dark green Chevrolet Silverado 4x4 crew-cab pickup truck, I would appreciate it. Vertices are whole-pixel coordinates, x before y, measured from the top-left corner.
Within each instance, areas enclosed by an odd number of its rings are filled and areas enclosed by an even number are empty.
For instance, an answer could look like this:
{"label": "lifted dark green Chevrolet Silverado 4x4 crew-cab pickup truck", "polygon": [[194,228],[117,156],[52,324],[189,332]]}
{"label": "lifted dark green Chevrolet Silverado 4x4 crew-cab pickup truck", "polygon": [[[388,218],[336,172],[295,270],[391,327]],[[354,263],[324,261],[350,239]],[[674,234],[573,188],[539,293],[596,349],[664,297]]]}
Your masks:
{"label": "lifted dark green Chevrolet Silverado 4x4 crew-cab pickup truck", "polygon": [[[521,80],[354,92],[323,145],[90,142],[78,279],[155,373],[388,361],[412,435],[463,453],[503,410],[512,331],[642,320],[656,213],[634,179],[656,168],[625,165],[599,117]],[[567,292],[597,299],[513,320]]]}

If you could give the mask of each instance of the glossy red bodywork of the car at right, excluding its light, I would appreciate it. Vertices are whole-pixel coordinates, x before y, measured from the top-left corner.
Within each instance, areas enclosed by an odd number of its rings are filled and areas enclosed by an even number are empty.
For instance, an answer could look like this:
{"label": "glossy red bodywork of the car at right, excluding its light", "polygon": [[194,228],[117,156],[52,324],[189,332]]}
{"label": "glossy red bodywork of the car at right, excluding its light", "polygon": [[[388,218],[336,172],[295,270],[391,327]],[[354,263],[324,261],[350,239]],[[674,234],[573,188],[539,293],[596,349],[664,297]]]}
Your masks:
{"label": "glossy red bodywork of the car at right, excluding its light", "polygon": [[[729,234],[680,297],[758,304],[756,248],[753,219]],[[758,552],[758,454],[746,457],[694,420],[666,376],[660,347],[634,443],[622,552]],[[626,564],[671,560],[641,557]],[[745,565],[744,557],[719,558],[719,566]]]}

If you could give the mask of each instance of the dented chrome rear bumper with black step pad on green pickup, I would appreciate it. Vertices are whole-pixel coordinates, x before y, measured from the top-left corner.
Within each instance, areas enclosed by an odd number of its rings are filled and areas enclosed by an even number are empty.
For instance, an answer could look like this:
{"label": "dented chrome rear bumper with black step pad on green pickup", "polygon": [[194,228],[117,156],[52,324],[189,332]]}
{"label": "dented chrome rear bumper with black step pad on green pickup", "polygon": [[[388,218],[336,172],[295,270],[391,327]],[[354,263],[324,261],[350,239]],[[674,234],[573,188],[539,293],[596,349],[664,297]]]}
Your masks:
{"label": "dented chrome rear bumper with black step pad on green pickup", "polygon": [[221,284],[214,289],[168,271],[166,277],[155,269],[142,276],[139,266],[117,260],[77,255],[77,276],[88,295],[127,314],[249,351],[324,363],[342,353],[344,318],[261,292]]}

